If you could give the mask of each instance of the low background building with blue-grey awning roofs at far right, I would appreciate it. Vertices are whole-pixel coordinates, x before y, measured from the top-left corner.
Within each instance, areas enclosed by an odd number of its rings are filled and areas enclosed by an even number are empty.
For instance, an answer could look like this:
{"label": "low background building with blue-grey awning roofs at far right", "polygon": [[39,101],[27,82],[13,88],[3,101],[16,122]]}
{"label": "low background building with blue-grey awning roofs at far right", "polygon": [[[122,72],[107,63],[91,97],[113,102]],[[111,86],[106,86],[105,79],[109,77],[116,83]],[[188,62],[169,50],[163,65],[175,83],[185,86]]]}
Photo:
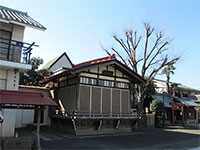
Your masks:
{"label": "low background building with blue-grey awning roofs at far right", "polygon": [[[170,87],[173,89],[170,94],[166,93],[167,85],[164,80],[154,80],[157,94],[153,95],[153,99],[158,99],[164,102],[166,123],[172,123],[172,118],[175,123],[181,123],[184,118],[184,123],[199,123],[200,122],[200,104],[198,103],[200,91],[191,87],[182,85],[181,83],[170,82]],[[172,117],[172,105],[170,103],[183,104],[183,110],[173,108],[174,117]],[[183,116],[183,117],[182,117]]]}

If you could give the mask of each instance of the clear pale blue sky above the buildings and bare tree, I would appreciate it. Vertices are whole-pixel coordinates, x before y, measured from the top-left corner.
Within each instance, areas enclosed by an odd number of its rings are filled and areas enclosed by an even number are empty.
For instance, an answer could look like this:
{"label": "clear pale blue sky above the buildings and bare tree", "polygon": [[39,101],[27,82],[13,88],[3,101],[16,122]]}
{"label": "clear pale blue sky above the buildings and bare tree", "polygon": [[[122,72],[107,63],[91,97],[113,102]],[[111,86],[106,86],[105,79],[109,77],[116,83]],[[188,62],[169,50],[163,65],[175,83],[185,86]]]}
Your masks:
{"label": "clear pale blue sky above the buildings and bare tree", "polygon": [[26,28],[24,37],[39,45],[33,56],[45,63],[63,52],[74,64],[103,57],[100,44],[116,46],[113,34],[143,31],[148,21],[172,39],[170,55],[182,54],[171,81],[200,89],[199,0],[1,0],[0,5],[28,12],[47,28]]}

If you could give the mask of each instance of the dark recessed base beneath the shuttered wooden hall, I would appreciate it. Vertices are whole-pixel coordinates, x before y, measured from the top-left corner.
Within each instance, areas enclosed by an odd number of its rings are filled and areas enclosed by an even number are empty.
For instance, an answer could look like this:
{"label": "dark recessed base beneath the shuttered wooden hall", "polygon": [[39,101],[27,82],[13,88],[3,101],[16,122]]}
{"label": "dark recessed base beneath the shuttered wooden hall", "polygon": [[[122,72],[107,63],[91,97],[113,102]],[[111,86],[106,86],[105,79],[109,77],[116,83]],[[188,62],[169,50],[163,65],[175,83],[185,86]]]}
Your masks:
{"label": "dark recessed base beneath the shuttered wooden hall", "polygon": [[75,121],[75,128],[71,119],[52,118],[52,127],[62,132],[75,135],[95,135],[128,133],[135,129],[136,120],[121,120],[121,125],[117,126],[118,120],[78,120]]}

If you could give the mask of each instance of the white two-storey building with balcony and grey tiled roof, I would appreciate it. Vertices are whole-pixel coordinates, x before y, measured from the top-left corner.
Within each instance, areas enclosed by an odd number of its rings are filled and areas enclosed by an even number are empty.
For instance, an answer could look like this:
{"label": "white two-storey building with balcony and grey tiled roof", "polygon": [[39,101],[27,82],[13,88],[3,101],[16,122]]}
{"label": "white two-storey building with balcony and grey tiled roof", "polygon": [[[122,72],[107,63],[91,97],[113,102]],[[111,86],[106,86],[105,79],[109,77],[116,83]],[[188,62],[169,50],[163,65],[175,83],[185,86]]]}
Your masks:
{"label": "white two-storey building with balcony and grey tiled roof", "polygon": [[[29,61],[34,43],[23,42],[25,27],[46,29],[27,13],[0,6],[0,107],[7,106],[5,102],[3,103],[5,99],[2,96],[6,90],[18,91],[19,73],[31,69]],[[33,111],[0,109],[4,116],[4,122],[0,124],[0,137],[13,136],[16,127],[29,123],[19,122],[19,118],[26,118],[27,112]]]}

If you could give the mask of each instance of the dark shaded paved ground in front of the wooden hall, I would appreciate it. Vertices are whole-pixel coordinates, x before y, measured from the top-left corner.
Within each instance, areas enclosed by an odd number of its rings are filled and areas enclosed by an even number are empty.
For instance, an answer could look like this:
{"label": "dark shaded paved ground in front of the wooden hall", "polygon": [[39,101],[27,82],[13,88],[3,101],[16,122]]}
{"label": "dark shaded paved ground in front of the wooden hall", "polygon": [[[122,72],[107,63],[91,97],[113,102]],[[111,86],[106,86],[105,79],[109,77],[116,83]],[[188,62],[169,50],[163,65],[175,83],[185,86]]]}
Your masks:
{"label": "dark shaded paved ground in front of the wooden hall", "polygon": [[41,132],[42,149],[193,149],[200,148],[200,130],[195,127],[145,129],[131,134],[70,136]]}

